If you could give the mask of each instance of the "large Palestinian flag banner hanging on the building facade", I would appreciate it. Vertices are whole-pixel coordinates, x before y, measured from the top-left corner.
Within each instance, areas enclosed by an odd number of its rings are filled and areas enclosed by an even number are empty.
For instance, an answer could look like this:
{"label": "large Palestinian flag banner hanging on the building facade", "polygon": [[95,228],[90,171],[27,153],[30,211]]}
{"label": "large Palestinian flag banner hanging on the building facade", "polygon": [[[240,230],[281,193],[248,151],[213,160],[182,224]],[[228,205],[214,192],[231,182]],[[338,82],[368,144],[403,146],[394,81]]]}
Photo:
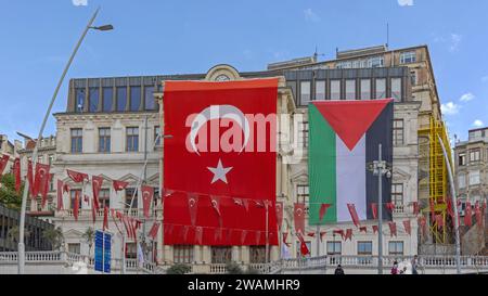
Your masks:
{"label": "large Palestinian flag banner hanging on the building facade", "polygon": [[[371,204],[377,203],[378,182],[369,165],[393,162],[393,100],[316,101],[309,105],[310,224],[351,221],[348,204],[359,220],[371,220]],[[383,218],[390,202],[391,179],[383,179]],[[331,204],[322,220],[321,204]]]}

